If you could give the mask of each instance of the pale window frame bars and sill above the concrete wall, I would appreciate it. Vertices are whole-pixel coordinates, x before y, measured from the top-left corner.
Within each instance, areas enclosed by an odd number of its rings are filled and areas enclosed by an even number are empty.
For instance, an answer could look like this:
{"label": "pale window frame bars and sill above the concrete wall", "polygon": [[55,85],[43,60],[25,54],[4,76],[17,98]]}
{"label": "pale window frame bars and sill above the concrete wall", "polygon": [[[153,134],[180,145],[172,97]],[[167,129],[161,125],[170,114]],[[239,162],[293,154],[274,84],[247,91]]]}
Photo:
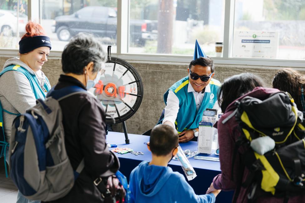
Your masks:
{"label": "pale window frame bars and sill above the concrete wall", "polygon": [[[28,19],[39,19],[41,21],[41,0],[28,0]],[[305,60],[288,59],[256,59],[256,58],[234,58],[229,57],[233,51],[234,33],[234,11],[235,0],[225,0],[225,23],[224,23],[224,46],[223,57],[211,57],[216,64],[225,65],[250,65],[250,66],[272,66],[272,67],[305,67]],[[32,12],[33,11],[33,12]],[[37,12],[38,11],[38,12]],[[129,13],[130,0],[118,0],[117,6],[117,53],[112,56],[119,57],[127,61],[145,62],[183,62],[189,63],[192,56],[170,55],[170,54],[136,54],[128,53],[129,49]],[[226,46],[228,45],[228,46]],[[60,59],[62,51],[50,52],[50,59]],[[0,48],[0,57],[15,57],[18,55],[17,49]]]}

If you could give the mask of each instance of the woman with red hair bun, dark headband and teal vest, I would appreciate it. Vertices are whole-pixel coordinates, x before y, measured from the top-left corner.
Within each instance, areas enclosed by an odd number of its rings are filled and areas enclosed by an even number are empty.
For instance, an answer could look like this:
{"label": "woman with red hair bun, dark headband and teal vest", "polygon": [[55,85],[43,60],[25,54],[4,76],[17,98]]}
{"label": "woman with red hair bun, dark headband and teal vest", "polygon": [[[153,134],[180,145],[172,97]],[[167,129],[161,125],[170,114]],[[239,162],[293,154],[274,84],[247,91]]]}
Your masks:
{"label": "woman with red hair bun, dark headband and teal vest", "polygon": [[[14,118],[35,106],[36,99],[44,99],[51,88],[41,71],[50,50],[50,38],[45,36],[41,25],[29,21],[26,34],[19,41],[20,58],[8,59],[0,72],[0,146],[3,148],[0,156],[4,156],[7,162]],[[21,202],[39,201],[27,200],[18,192],[17,203]]]}

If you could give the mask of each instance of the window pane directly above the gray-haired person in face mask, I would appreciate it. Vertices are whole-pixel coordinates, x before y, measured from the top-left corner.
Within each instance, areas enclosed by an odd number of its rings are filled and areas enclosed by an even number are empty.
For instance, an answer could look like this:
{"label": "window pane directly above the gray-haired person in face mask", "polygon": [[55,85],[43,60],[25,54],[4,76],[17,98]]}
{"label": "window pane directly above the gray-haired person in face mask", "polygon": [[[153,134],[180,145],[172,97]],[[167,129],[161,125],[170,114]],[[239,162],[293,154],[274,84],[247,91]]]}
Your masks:
{"label": "window pane directly above the gray-haired person in face mask", "polygon": [[50,0],[42,2],[41,25],[50,37],[52,51],[63,51],[71,37],[91,33],[116,52],[117,0]]}

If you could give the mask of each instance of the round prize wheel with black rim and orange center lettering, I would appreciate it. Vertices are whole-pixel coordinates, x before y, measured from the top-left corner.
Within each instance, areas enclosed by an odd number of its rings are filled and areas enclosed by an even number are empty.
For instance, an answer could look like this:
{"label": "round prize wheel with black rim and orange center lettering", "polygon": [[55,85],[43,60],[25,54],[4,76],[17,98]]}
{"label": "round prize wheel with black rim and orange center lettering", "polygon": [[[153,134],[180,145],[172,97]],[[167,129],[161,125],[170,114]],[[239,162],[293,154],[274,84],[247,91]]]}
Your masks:
{"label": "round prize wheel with black rim and orange center lettering", "polygon": [[111,116],[106,117],[106,124],[113,124],[113,119],[115,123],[126,121],[138,110],[143,97],[143,83],[139,73],[123,59],[111,57],[110,48],[108,46],[105,72],[93,92],[105,112]]}

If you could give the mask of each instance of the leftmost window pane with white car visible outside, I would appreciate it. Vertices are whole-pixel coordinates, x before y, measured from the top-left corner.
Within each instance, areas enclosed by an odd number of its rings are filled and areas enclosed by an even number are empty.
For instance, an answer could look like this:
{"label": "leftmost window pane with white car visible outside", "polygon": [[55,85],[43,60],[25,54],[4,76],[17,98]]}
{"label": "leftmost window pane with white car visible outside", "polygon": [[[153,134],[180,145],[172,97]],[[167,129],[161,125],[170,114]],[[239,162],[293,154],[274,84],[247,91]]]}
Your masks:
{"label": "leftmost window pane with white car visible outside", "polygon": [[27,1],[19,3],[18,9],[17,1],[0,0],[0,48],[19,49],[18,42],[28,22]]}

